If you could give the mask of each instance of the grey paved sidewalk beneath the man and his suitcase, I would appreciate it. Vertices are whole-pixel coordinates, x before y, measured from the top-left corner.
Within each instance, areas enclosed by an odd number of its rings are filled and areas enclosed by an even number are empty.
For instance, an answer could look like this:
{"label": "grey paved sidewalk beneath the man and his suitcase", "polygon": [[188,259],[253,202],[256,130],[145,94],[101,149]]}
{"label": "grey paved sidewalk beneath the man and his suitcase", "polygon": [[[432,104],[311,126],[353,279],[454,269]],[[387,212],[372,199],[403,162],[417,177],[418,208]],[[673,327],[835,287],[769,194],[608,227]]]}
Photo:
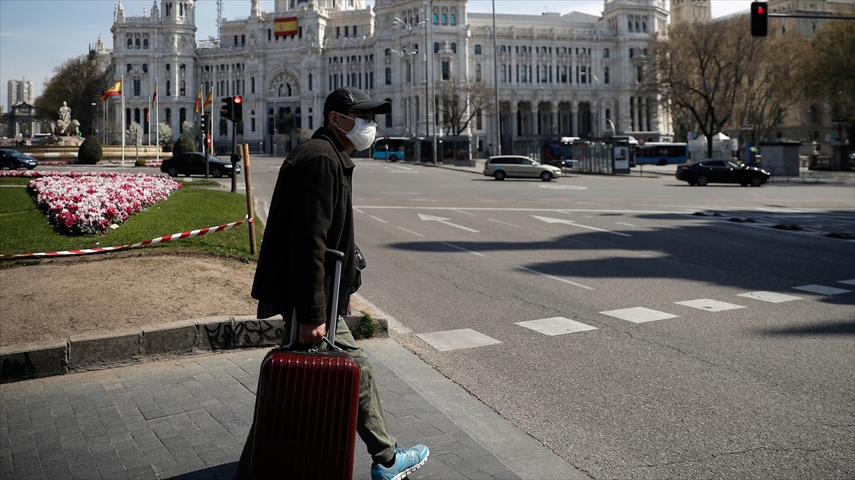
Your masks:
{"label": "grey paved sidewalk beneath the man and his suitcase", "polygon": [[[392,434],[431,449],[413,480],[586,478],[392,339],[361,344]],[[231,478],[267,350],[0,385],[0,477]],[[354,477],[370,478],[356,453]]]}

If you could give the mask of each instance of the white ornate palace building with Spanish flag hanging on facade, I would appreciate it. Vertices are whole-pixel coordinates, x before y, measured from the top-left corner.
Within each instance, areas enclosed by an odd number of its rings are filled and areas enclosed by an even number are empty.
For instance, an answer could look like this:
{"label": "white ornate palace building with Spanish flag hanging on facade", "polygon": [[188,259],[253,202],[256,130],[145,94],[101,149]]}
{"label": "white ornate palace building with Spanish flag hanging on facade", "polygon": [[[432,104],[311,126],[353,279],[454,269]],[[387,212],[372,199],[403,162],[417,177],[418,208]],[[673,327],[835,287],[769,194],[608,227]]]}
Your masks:
{"label": "white ornate palace building with Spanish flag hanging on facade", "polygon": [[[493,15],[470,13],[466,0],[376,0],[374,7],[275,0],[274,12],[262,11],[261,0],[245,2],[248,17],[222,20],[219,38],[200,41],[196,9],[215,3],[160,0],[149,15],[132,16],[119,0],[113,49],[99,39],[96,54],[115,79],[124,76],[127,122],[149,131],[145,114],[157,81],[159,117],[150,120],[178,132],[184,120],[198,120],[201,85],[213,90],[217,145],[231,143],[233,128],[220,119],[221,98],[240,95],[239,142],[270,151],[271,143],[297,141],[320,126],[327,93],[351,85],[392,102],[381,135],[430,138],[433,123],[442,122],[425,98],[457,80],[483,85],[488,111],[498,95],[503,153],[520,140],[598,137],[612,126],[619,134],[673,136],[657,98],[635,93],[646,41],[669,20],[663,0],[604,0],[599,17],[495,15],[496,48]],[[692,0],[674,3],[675,17],[681,8],[698,15],[689,3],[709,16],[709,0]],[[111,99],[109,108],[110,118],[121,118],[121,102]],[[474,152],[496,142],[496,123],[487,112],[473,115],[462,135]]]}

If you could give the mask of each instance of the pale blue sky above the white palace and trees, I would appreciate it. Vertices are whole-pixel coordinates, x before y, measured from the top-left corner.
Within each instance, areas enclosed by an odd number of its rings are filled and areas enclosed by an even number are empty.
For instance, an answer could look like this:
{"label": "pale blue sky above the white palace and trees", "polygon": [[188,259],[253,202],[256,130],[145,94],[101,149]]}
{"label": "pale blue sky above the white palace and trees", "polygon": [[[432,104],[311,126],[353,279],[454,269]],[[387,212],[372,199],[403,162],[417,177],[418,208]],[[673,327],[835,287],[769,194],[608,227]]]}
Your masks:
{"label": "pale blue sky above the white palace and trees", "polygon": [[[0,0],[0,105],[8,111],[10,79],[32,80],[35,96],[41,95],[44,82],[56,67],[76,56],[85,55],[98,34],[112,48],[114,0]],[[160,8],[160,0],[157,1]],[[491,13],[492,0],[469,0],[469,12]],[[153,0],[122,0],[126,16],[151,13]],[[373,0],[367,0],[373,5]],[[495,0],[497,14],[532,15],[543,12],[567,14],[578,11],[601,15],[603,0]],[[712,0],[712,16],[717,18],[747,12],[750,0]],[[233,20],[250,15],[250,0],[225,0],[222,16]],[[272,11],[274,0],[262,0],[262,10]],[[198,0],[196,8],[197,40],[216,36],[215,0]]]}

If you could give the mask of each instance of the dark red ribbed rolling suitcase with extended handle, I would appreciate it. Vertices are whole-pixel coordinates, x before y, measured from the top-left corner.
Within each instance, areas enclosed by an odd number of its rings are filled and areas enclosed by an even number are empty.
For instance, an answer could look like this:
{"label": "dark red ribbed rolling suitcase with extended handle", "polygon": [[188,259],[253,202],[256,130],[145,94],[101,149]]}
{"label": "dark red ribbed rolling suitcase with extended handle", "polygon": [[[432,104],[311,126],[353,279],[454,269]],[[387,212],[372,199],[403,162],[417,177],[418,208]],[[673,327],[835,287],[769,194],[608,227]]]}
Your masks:
{"label": "dark red ribbed rolling suitcase with extended handle", "polygon": [[329,349],[292,348],[297,340],[292,317],[291,344],[262,360],[251,478],[353,477],[360,371],[351,355],[333,348],[344,255],[327,251],[336,256]]}

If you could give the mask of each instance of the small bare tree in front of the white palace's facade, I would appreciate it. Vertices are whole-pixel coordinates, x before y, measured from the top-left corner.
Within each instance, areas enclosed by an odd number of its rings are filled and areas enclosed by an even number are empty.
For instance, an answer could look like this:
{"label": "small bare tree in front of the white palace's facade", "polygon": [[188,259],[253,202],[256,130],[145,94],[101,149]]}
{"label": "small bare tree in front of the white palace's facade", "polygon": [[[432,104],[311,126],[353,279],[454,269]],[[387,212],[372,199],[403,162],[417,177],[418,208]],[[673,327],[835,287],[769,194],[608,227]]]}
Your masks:
{"label": "small bare tree in front of the white palace's facade", "polygon": [[437,113],[445,135],[460,135],[480,113],[492,116],[492,91],[482,82],[454,79],[437,88]]}

